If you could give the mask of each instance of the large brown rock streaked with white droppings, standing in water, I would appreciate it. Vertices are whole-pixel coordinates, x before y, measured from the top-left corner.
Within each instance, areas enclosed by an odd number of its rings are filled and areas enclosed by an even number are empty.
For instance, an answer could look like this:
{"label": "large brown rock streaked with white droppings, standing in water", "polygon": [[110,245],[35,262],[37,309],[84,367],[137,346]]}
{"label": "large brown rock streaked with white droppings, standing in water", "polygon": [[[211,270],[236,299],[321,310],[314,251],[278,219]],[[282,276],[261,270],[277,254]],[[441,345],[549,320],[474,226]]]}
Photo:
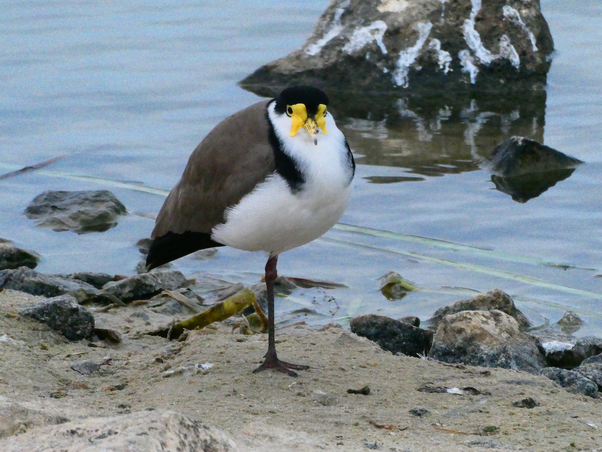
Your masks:
{"label": "large brown rock streaked with white droppings, standing in water", "polygon": [[539,1],[334,0],[302,48],[241,84],[429,93],[543,87],[553,49]]}

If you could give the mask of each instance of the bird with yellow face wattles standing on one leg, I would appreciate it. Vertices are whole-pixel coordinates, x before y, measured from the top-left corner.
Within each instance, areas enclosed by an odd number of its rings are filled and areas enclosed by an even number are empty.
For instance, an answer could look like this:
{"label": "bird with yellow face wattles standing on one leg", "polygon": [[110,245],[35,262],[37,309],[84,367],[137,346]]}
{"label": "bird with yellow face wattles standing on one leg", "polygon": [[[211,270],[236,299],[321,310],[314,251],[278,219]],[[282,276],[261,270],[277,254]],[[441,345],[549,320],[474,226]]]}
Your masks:
{"label": "bird with yellow face wattles standing on one leg", "polygon": [[297,376],[309,366],[278,359],[274,281],[278,256],[317,239],[349,205],[355,160],[312,86],[287,87],[216,125],[194,149],[152,231],[150,271],[197,250],[231,246],[267,253],[268,350],[254,373]]}

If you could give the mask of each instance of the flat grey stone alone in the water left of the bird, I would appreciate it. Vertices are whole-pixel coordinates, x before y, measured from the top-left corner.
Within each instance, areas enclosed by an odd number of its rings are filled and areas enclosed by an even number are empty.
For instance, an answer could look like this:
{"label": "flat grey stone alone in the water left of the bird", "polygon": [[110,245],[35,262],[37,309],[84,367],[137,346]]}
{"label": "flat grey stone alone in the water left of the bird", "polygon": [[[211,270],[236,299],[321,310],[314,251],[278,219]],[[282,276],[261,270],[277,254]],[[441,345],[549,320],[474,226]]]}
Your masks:
{"label": "flat grey stone alone in the water left of the bird", "polygon": [[54,231],[78,234],[102,232],[117,225],[125,206],[108,190],[48,191],[36,196],[25,209],[29,219]]}

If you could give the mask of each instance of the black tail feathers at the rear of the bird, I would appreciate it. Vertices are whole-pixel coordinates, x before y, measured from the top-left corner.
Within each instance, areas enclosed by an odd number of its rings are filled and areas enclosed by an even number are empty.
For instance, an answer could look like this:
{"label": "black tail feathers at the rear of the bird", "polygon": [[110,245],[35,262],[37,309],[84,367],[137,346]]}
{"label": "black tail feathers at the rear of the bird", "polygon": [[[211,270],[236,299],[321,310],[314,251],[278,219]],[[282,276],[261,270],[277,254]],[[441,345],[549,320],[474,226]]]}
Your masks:
{"label": "black tail feathers at the rear of the bird", "polygon": [[187,231],[176,234],[168,232],[161,237],[157,237],[151,243],[149,254],[146,256],[146,267],[152,270],[179,257],[194,253],[194,251],[213,248],[214,246],[224,245],[211,240],[211,234],[208,233]]}

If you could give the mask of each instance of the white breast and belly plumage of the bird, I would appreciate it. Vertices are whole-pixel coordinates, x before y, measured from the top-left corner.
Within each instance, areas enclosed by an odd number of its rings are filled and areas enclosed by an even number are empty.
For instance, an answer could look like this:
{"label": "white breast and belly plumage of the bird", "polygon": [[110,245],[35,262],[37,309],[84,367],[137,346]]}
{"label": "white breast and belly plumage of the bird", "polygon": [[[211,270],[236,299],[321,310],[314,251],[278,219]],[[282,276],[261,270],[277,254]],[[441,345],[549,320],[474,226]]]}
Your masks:
{"label": "white breast and belly plumage of the bird", "polygon": [[[273,111],[268,112],[272,119]],[[349,204],[350,172],[344,136],[332,119],[317,145],[305,130],[297,137],[279,132],[290,130],[290,120],[272,121],[285,152],[299,162],[305,184],[293,193],[284,178],[271,175],[226,212],[226,222],[213,228],[211,238],[275,255],[317,239],[336,224]]]}

